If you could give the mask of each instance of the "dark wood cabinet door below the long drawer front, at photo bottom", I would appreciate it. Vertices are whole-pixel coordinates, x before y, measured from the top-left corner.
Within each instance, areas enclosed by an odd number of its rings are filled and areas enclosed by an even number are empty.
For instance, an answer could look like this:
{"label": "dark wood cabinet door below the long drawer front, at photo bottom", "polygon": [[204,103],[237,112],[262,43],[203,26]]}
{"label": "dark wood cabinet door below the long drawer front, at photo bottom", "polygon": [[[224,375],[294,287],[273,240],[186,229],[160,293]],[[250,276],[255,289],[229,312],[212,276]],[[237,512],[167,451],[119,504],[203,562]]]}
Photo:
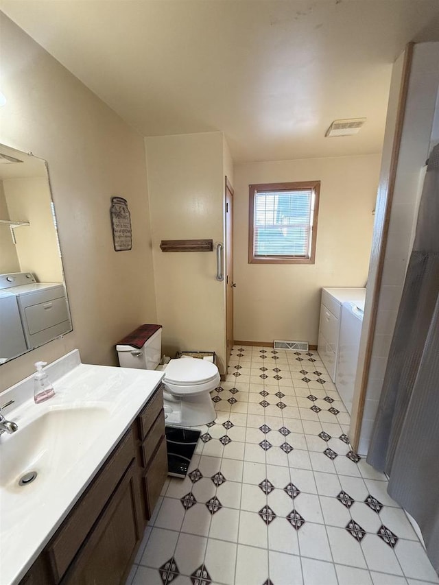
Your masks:
{"label": "dark wood cabinet door below the long drawer front, at photo bottom", "polygon": [[134,462],[69,567],[62,585],[119,585],[141,538]]}

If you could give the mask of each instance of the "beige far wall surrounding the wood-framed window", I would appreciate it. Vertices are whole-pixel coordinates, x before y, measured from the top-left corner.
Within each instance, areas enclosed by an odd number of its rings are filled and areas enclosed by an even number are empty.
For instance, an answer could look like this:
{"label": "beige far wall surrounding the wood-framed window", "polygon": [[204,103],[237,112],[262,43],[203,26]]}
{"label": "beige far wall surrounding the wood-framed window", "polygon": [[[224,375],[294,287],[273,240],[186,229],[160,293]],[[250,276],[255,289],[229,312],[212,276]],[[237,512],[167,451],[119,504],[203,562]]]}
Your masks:
{"label": "beige far wall surrounding the wood-framed window", "polygon": [[[376,154],[235,167],[235,339],[317,344],[322,287],[364,287],[379,163]],[[316,263],[249,264],[248,185],[306,180],[321,181]]]}

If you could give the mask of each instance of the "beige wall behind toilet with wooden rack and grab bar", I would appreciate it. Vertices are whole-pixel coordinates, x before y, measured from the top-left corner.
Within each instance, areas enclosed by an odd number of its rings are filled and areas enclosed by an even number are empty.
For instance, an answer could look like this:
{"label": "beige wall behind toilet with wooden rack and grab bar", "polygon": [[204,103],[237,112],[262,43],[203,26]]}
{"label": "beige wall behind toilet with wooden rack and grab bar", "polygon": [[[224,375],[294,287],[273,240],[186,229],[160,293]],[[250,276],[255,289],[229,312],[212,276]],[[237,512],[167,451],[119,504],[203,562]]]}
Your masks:
{"label": "beige wall behind toilet with wooden rack and grab bar", "polygon": [[[224,283],[215,280],[215,245],[224,241],[222,132],[145,139],[157,319],[163,350],[217,353],[224,372]],[[213,239],[213,252],[162,252],[161,240]]]}

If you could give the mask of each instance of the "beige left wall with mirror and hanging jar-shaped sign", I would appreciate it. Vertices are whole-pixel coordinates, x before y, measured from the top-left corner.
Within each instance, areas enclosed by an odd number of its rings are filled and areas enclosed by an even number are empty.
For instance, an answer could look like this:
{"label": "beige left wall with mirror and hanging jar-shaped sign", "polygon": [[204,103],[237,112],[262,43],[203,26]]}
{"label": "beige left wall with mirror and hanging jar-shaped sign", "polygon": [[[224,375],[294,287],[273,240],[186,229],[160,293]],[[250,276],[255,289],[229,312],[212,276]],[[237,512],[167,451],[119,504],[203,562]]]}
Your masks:
{"label": "beige left wall with mirror and hanging jar-shaped sign", "polygon": [[[1,366],[1,388],[72,348],[117,364],[114,345],[156,320],[143,137],[7,17],[1,19],[1,142],[49,163],[73,333]],[[115,252],[110,198],[128,200],[133,246]]]}

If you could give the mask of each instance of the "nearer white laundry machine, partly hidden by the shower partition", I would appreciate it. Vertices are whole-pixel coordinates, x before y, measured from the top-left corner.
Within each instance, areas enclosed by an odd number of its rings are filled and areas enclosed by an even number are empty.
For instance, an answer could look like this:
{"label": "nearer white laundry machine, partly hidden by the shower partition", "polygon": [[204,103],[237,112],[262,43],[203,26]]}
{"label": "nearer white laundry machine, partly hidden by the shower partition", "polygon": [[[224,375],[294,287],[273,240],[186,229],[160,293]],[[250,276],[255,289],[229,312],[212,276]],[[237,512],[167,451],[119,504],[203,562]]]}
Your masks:
{"label": "nearer white laundry machine, partly hidden by the shower partition", "polygon": [[364,301],[349,300],[343,303],[335,386],[349,414],[352,414],[363,315]]}

